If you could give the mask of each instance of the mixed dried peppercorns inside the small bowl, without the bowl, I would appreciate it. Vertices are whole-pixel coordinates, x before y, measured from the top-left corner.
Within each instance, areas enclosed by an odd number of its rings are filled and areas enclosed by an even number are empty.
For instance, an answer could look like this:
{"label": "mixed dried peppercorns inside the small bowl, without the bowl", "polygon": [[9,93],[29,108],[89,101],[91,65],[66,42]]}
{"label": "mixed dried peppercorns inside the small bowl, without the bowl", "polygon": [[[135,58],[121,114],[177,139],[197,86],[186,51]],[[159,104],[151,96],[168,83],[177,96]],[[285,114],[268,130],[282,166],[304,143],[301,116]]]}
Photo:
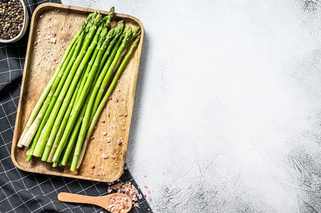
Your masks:
{"label": "mixed dried peppercorns inside the small bowl, without the bowl", "polygon": [[0,38],[12,39],[24,25],[24,8],[18,0],[2,0],[0,6]]}

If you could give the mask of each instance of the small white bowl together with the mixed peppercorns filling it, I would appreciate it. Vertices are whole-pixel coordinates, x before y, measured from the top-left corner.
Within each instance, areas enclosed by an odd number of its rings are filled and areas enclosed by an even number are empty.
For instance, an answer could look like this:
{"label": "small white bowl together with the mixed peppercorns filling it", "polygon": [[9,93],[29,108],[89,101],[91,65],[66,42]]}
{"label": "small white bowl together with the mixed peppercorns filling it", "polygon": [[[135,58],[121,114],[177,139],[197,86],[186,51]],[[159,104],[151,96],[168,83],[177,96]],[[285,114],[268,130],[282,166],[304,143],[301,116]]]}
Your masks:
{"label": "small white bowl together with the mixed peppercorns filling it", "polygon": [[0,0],[0,43],[21,39],[28,22],[29,14],[23,0]]}

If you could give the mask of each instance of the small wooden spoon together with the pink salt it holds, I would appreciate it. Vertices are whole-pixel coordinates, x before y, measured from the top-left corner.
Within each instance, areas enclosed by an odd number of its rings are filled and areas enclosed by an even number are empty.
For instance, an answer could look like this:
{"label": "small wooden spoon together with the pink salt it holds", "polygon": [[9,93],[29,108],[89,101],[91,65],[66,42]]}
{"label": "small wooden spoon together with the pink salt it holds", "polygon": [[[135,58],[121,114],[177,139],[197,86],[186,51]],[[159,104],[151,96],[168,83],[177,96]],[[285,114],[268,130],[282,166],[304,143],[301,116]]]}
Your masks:
{"label": "small wooden spoon together with the pink salt it holds", "polygon": [[124,193],[113,193],[98,197],[72,193],[59,193],[58,200],[70,203],[94,204],[103,207],[112,213],[118,212],[117,210],[119,208],[121,208],[121,212],[127,213],[132,207],[132,201],[130,197],[128,195],[125,195]]}

